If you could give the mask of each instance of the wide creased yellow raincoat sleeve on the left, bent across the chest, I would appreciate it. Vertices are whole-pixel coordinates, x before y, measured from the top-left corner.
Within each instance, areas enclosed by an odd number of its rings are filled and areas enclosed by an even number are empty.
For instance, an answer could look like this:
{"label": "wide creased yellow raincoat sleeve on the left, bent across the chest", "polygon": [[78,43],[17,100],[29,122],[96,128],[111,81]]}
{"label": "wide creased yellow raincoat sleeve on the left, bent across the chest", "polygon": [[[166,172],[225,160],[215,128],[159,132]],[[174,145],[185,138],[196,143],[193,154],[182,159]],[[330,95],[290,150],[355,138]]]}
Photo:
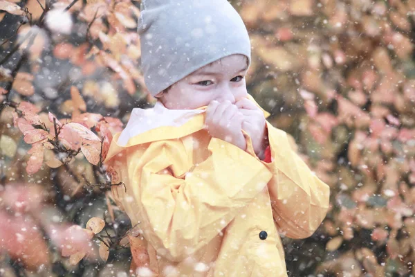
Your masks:
{"label": "wide creased yellow raincoat sleeve on the left, bent across the chest", "polygon": [[145,239],[180,261],[208,244],[263,190],[271,173],[236,146],[212,139],[210,157],[192,163],[181,140],[130,151],[129,182]]}

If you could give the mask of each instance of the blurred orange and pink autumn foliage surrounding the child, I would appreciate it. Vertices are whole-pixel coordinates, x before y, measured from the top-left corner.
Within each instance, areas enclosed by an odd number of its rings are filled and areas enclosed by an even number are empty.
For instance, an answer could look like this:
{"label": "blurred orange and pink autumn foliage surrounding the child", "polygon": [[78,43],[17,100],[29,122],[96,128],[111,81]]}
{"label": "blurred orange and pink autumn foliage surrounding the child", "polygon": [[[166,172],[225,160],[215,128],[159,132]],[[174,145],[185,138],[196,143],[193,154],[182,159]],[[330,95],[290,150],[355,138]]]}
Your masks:
{"label": "blurred orange and pink autumn foliage surrounding the child", "polygon": [[[283,238],[288,276],[415,276],[415,1],[231,2],[248,91],[331,187],[320,229]],[[129,275],[136,242],[100,159],[154,104],[139,6],[0,0],[1,276]]]}

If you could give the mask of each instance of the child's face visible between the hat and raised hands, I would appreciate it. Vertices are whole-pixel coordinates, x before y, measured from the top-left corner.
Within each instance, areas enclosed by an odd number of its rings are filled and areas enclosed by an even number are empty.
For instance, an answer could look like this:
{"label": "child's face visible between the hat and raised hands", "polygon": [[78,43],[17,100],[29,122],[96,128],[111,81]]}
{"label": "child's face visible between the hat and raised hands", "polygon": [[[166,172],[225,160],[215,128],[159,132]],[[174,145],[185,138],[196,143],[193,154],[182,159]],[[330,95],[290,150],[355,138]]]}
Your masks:
{"label": "child's face visible between the hat and raised hands", "polygon": [[158,96],[167,109],[196,109],[208,106],[212,100],[230,100],[233,104],[247,96],[247,67],[244,55],[223,57],[187,75]]}

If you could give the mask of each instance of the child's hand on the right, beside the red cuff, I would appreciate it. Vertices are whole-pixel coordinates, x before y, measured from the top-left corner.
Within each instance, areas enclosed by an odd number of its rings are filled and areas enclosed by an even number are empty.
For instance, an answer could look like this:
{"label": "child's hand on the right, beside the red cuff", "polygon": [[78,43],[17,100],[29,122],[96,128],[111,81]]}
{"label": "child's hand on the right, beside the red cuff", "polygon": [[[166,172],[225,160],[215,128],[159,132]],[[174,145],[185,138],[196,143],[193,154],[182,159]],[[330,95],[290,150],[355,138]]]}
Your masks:
{"label": "child's hand on the right, beside the red cuff", "polygon": [[266,148],[266,120],[264,112],[248,98],[235,104],[243,114],[242,129],[252,140],[252,147],[259,159],[263,159]]}

